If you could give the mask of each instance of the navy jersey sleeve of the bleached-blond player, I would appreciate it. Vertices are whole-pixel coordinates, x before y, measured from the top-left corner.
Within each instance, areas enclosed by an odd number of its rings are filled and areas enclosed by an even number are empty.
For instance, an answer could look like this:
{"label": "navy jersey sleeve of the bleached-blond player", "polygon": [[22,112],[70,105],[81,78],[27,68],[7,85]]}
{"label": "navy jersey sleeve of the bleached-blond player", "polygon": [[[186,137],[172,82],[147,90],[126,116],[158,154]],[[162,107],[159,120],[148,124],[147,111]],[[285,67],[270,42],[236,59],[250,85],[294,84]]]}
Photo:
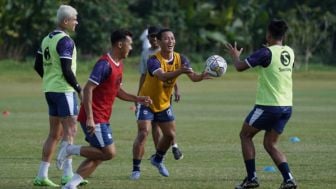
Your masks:
{"label": "navy jersey sleeve of the bleached-blond player", "polygon": [[64,36],[58,41],[56,49],[60,58],[72,59],[74,47],[73,40],[68,36]]}

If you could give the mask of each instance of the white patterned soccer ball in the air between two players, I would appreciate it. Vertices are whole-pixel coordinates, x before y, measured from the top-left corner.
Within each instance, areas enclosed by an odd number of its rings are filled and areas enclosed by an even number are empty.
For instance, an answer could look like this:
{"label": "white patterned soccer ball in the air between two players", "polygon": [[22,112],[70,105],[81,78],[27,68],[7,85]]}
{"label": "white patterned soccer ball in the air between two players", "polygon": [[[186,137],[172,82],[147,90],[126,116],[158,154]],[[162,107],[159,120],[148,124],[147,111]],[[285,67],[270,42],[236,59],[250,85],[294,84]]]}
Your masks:
{"label": "white patterned soccer ball in the air between two players", "polygon": [[220,77],[225,74],[227,63],[225,59],[219,55],[212,55],[205,61],[205,72],[212,77]]}

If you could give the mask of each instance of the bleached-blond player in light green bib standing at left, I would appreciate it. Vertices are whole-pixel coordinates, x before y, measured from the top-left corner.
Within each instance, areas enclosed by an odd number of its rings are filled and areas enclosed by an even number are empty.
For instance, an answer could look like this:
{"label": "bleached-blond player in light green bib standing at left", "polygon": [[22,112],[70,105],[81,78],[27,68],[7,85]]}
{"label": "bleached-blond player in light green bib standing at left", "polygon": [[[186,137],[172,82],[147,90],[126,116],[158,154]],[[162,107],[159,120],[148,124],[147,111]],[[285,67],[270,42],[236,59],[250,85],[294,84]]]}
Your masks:
{"label": "bleached-blond player in light green bib standing at left", "polygon": [[[62,138],[61,146],[73,142],[76,134],[77,97],[81,98],[82,89],[76,74],[76,47],[68,32],[74,32],[77,11],[71,6],[61,5],[57,10],[57,28],[42,41],[37,52],[34,68],[42,77],[42,88],[49,107],[49,134],[43,145],[42,161],[35,186],[58,187],[48,178],[48,169],[57,143]],[[73,176],[72,159],[67,158],[61,183],[65,184]]]}

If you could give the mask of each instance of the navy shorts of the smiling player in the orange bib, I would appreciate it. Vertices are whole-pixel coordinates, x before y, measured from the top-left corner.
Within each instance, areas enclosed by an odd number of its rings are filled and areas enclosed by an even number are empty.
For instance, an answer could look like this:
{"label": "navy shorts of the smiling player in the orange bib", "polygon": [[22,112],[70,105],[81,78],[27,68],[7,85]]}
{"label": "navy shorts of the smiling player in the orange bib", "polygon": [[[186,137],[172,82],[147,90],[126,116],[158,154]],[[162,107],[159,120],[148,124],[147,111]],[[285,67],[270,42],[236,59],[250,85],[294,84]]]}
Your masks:
{"label": "navy shorts of the smiling player in the orange bib", "polygon": [[149,107],[142,104],[137,105],[136,118],[137,120],[152,120],[154,122],[168,122],[175,120],[173,108],[171,106],[161,112],[153,112]]}

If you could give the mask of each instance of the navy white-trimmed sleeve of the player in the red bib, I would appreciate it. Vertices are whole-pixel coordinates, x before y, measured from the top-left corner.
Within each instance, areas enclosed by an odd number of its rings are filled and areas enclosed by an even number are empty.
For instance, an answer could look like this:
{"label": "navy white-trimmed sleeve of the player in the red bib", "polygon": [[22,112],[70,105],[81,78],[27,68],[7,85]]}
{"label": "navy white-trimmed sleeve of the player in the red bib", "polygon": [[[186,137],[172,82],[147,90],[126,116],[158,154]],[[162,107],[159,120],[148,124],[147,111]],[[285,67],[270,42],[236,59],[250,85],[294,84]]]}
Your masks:
{"label": "navy white-trimmed sleeve of the player in the red bib", "polygon": [[93,70],[89,77],[89,81],[96,85],[99,85],[108,78],[111,72],[112,69],[109,66],[109,63],[106,60],[99,60],[93,67]]}

